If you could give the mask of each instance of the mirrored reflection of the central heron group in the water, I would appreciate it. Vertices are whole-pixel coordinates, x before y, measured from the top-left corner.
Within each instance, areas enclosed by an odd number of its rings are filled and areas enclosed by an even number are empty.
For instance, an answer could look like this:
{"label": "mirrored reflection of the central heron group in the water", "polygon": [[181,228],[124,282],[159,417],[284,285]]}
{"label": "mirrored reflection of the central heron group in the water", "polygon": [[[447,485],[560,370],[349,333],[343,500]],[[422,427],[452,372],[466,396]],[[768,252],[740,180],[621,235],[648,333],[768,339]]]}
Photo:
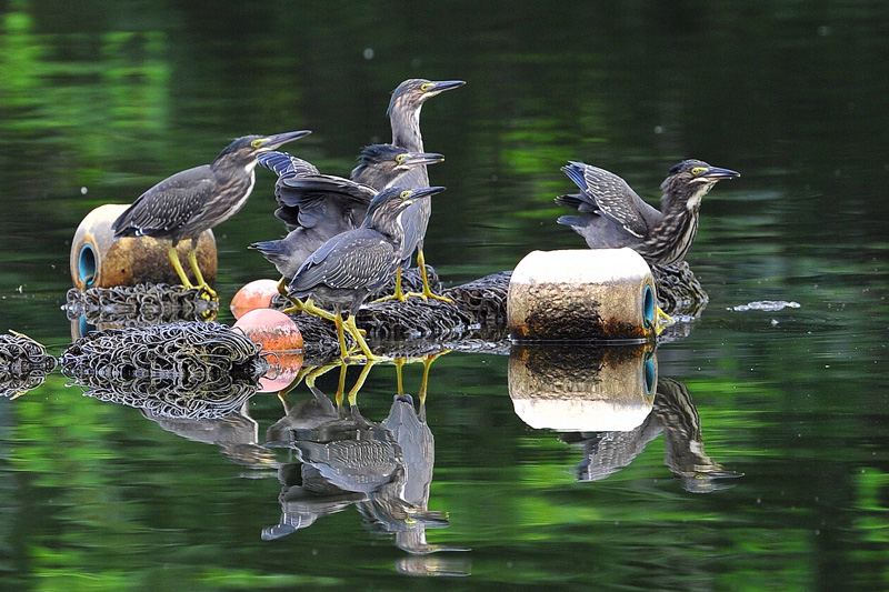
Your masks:
{"label": "mirrored reflection of the central heron group in the water", "polygon": [[[320,516],[354,504],[369,530],[394,534],[396,546],[412,555],[466,550],[426,540],[427,529],[449,525],[447,512],[428,508],[434,438],[426,422],[424,392],[431,359],[434,357],[416,359],[424,363],[419,412],[413,398],[399,392],[381,422],[363,418],[357,405],[358,390],[373,364],[362,368],[348,394],[343,394],[348,364],[337,361],[304,375],[312,398],[288,405],[287,415],[271,425],[267,434],[267,445],[292,449],[298,462],[279,469],[282,515],[277,525],[263,529],[264,540],[291,534]],[[333,368],[340,369],[337,404],[316,384],[320,375]],[[342,407],[344,399],[349,400],[349,412]],[[406,570],[424,571],[421,565]],[[432,564],[426,571],[462,573],[458,568]]]}

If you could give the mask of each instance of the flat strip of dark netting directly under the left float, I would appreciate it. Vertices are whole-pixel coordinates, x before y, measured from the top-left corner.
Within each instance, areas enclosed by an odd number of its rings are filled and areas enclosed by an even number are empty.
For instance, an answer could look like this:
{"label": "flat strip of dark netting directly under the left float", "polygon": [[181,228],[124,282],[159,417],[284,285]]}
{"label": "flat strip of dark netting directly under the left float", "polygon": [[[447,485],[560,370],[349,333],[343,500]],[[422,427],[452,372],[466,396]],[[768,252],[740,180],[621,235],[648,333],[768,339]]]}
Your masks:
{"label": "flat strip of dark netting directly under the left float", "polygon": [[216,311],[218,302],[201,298],[201,291],[183,285],[140,283],[113,288],[68,290],[62,305],[68,320],[83,317],[91,324],[143,325],[191,321]]}

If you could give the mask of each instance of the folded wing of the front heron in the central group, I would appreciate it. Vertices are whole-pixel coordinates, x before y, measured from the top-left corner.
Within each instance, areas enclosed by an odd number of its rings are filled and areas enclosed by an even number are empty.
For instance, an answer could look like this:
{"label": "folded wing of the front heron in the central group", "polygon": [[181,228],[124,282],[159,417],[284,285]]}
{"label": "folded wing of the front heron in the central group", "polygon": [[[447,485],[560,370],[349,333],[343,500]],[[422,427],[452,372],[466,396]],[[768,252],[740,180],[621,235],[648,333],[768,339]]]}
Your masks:
{"label": "folded wing of the front heron in the central group", "polygon": [[322,284],[334,289],[373,288],[389,277],[396,260],[394,245],[376,230],[350,230],[309,255],[290,282],[289,292],[307,293]]}

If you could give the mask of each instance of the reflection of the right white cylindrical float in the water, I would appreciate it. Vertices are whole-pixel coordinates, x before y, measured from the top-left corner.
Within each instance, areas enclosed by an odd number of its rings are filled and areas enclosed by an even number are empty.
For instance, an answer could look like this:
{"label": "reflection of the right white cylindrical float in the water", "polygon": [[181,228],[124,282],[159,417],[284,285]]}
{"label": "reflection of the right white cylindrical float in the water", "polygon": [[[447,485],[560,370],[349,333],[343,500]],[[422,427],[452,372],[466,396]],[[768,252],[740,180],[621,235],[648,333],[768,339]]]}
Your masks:
{"label": "reflection of the right white cylindrical float in the water", "polygon": [[516,347],[509,395],[535,429],[626,432],[651,412],[657,361],[649,347]]}

